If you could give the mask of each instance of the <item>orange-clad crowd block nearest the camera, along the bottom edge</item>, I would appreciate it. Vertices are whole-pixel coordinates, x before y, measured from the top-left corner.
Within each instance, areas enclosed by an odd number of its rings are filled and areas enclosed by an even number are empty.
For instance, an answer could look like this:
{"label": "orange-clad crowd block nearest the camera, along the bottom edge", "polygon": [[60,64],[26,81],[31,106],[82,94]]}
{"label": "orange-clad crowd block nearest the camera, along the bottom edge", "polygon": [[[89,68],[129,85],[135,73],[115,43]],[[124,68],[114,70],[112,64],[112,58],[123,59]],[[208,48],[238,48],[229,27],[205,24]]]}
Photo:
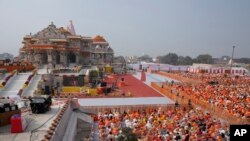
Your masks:
{"label": "orange-clad crowd block nearest the camera, along the bottom edge", "polygon": [[199,108],[104,111],[97,121],[102,141],[129,138],[124,129],[130,129],[138,141],[229,140],[228,125]]}

